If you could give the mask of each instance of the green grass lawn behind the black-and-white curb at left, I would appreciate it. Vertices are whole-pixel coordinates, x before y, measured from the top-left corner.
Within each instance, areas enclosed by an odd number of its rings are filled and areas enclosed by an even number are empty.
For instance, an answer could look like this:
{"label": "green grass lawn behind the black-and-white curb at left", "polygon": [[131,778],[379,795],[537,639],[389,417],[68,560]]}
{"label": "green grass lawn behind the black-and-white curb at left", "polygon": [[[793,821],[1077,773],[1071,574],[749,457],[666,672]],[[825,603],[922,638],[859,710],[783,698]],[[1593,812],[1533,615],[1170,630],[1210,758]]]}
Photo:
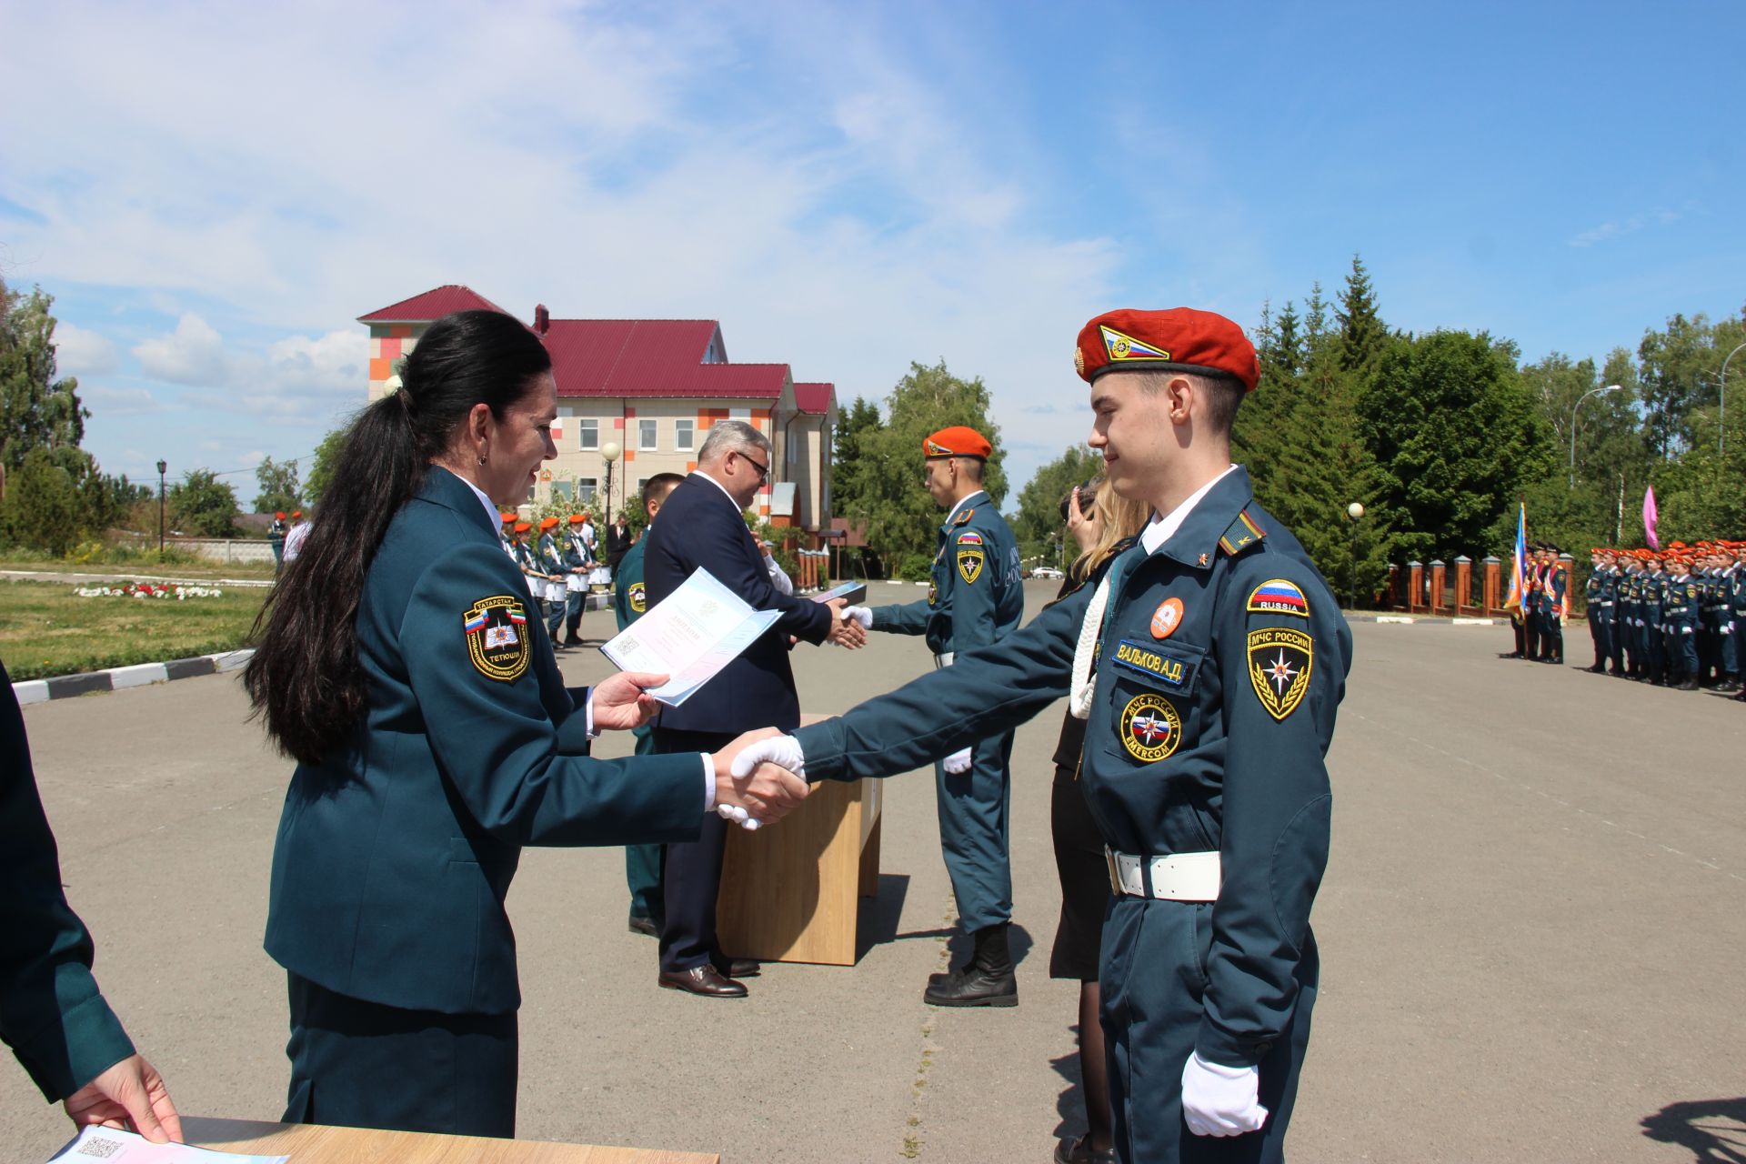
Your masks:
{"label": "green grass lawn behind the black-and-white curb at left", "polygon": [[248,630],[271,593],[248,586],[178,602],[173,597],[80,599],[77,588],[72,583],[0,581],[0,660],[14,682],[236,651],[248,646]]}

